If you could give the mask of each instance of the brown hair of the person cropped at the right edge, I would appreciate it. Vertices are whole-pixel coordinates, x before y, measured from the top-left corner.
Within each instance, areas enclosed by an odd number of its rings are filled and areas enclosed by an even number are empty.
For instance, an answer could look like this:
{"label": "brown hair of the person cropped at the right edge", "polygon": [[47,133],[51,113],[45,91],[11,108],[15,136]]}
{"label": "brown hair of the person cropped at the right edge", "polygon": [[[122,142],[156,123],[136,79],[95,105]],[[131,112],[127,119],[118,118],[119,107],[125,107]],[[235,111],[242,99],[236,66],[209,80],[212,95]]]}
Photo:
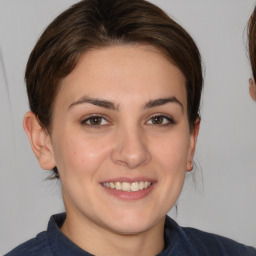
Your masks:
{"label": "brown hair of the person cropped at the right edge", "polygon": [[252,66],[252,74],[256,81],[256,7],[248,22],[248,47],[249,57]]}

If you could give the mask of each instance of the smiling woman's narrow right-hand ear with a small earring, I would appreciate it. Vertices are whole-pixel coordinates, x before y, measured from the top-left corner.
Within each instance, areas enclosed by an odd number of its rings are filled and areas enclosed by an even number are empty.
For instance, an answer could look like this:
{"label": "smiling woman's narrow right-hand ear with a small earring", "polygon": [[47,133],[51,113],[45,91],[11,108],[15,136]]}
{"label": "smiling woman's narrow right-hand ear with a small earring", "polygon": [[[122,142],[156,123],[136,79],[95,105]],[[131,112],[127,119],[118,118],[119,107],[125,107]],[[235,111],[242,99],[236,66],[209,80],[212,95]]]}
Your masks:
{"label": "smiling woman's narrow right-hand ear with a small earring", "polygon": [[196,150],[196,142],[200,128],[200,117],[198,117],[194,123],[193,130],[190,133],[190,144],[189,144],[189,152],[187,159],[187,171],[193,170],[193,158]]}

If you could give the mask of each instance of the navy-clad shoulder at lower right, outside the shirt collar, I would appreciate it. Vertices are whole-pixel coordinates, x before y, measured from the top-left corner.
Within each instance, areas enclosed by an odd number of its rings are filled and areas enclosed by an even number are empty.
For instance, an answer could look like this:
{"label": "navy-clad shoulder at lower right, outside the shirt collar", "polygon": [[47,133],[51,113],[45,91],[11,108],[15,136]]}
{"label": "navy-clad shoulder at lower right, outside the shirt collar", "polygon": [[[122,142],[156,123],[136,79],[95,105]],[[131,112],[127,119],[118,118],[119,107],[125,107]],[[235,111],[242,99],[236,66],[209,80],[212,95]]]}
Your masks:
{"label": "navy-clad shoulder at lower right, outside the shirt collar", "polygon": [[256,256],[256,249],[226,237],[194,228],[182,228],[188,243],[200,255]]}

